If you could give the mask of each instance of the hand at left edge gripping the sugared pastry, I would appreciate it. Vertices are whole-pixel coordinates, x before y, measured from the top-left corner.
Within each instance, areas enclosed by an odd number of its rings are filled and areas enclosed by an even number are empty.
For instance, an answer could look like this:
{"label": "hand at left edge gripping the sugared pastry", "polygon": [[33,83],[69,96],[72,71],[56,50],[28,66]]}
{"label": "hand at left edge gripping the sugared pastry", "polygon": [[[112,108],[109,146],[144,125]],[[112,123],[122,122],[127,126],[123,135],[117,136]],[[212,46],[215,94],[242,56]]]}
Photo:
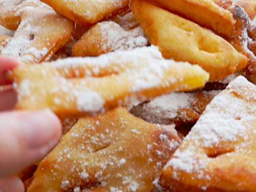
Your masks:
{"label": "hand at left edge gripping the sugared pastry", "polygon": [[16,94],[5,78],[19,62],[0,56],[0,192],[24,192],[15,176],[42,159],[61,137],[61,124],[50,110],[10,111]]}

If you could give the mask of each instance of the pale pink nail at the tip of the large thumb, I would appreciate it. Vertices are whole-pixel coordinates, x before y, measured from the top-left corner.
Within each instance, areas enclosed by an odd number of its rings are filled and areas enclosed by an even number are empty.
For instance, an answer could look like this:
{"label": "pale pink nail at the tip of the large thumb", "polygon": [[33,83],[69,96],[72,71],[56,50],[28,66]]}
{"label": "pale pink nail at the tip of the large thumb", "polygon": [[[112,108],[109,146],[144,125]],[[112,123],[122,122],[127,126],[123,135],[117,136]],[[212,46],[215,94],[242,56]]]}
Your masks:
{"label": "pale pink nail at the tip of the large thumb", "polygon": [[37,111],[21,117],[25,143],[31,149],[54,146],[61,136],[61,125],[50,110]]}

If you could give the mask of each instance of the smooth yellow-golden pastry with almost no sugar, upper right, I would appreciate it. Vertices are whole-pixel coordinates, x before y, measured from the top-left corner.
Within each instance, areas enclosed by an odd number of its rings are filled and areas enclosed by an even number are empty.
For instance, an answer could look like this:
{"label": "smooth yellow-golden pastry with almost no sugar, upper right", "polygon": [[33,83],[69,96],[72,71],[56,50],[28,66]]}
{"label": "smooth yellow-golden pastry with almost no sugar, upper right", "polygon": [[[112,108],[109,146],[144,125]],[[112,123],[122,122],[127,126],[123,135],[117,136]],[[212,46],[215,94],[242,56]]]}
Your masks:
{"label": "smooth yellow-golden pastry with almost no sugar, upper right", "polygon": [[210,81],[247,65],[247,58],[229,42],[189,20],[140,0],[132,1],[132,10],[148,40],[159,46],[165,58],[198,64],[210,74]]}

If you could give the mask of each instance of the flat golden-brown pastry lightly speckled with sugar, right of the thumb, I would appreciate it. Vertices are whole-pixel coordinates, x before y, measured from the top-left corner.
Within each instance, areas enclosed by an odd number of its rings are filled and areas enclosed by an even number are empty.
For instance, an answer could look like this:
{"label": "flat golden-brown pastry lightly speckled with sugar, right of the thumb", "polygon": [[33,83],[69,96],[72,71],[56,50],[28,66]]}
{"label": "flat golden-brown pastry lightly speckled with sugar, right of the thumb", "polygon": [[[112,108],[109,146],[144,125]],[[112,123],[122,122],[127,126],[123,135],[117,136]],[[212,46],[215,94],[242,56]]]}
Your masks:
{"label": "flat golden-brown pastry lightly speckled with sugar, right of the thumb", "polygon": [[173,126],[123,108],[81,118],[40,163],[28,191],[150,191],[180,142]]}

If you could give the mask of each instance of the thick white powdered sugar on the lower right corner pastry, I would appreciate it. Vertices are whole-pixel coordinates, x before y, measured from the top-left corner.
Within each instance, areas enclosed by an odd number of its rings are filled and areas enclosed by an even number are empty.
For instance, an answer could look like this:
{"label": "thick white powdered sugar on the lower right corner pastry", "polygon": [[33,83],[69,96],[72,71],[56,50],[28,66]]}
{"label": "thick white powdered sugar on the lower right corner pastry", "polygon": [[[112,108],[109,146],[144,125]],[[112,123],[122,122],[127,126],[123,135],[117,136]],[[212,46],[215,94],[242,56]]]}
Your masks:
{"label": "thick white powdered sugar on the lower right corner pastry", "polygon": [[248,134],[255,129],[255,122],[256,86],[239,76],[210,102],[164,169],[171,167],[172,177],[177,180],[181,179],[181,170],[196,173],[198,179],[210,180],[211,176],[206,173],[210,173],[208,163],[213,159],[207,157],[207,151],[226,150],[234,145],[233,153],[239,152],[251,143]]}

